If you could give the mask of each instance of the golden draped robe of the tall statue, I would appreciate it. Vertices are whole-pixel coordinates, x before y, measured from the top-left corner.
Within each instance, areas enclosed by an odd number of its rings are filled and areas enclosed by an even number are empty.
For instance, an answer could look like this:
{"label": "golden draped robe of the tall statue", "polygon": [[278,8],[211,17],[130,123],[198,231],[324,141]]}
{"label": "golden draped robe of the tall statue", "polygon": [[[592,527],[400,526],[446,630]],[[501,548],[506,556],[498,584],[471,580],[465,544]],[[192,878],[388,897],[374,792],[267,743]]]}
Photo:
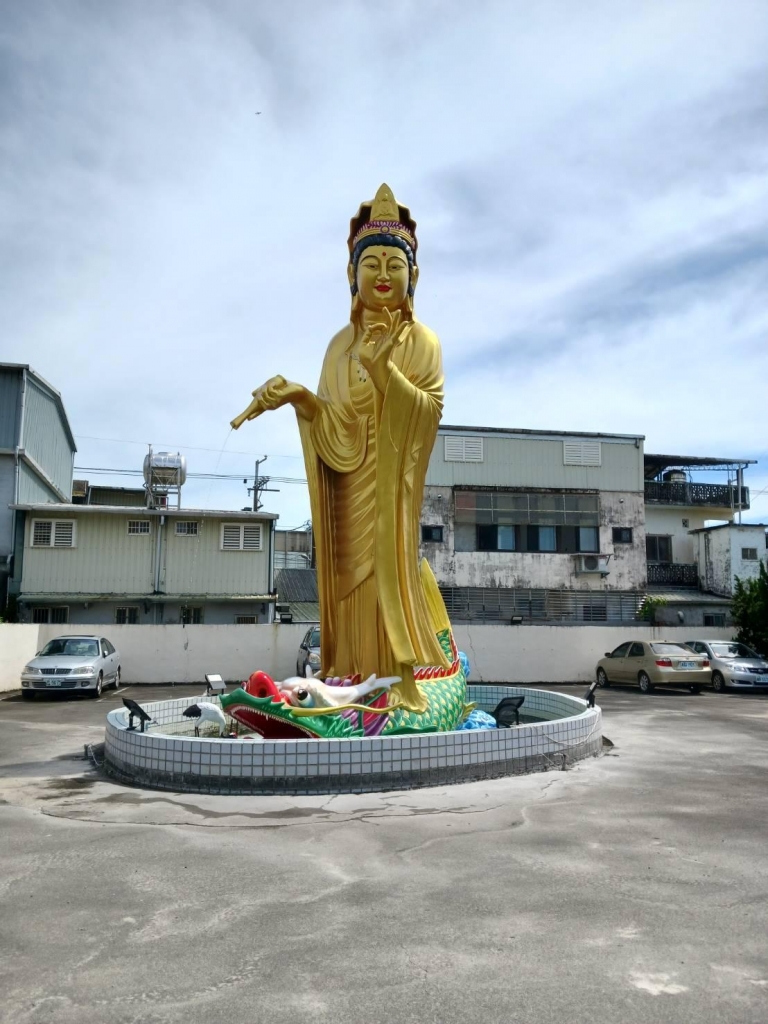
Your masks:
{"label": "golden draped robe of the tall statue", "polygon": [[[447,665],[419,571],[424,479],[442,410],[435,334],[400,329],[384,395],[353,358],[355,328],[331,341],[317,411],[298,417],[317,557],[323,672],[400,676],[398,696],[424,700],[416,665]],[[367,376],[367,375],[362,375]]]}

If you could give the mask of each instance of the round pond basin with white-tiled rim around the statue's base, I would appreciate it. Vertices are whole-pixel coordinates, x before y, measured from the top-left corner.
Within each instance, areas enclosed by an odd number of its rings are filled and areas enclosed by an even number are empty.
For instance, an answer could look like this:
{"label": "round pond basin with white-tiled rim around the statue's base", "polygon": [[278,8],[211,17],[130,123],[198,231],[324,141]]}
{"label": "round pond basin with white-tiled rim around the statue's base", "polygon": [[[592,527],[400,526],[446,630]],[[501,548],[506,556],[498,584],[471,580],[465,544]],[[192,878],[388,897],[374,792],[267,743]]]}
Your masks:
{"label": "round pond basin with white-tiled rim around the statue's base", "polygon": [[[484,711],[524,696],[522,724],[370,739],[196,738],[182,712],[196,698],[141,702],[153,722],[128,729],[128,712],[106,719],[105,767],[158,790],[219,794],[371,793],[564,768],[602,748],[602,714],[580,697],[520,686],[468,687]],[[200,699],[217,702],[216,697]]]}

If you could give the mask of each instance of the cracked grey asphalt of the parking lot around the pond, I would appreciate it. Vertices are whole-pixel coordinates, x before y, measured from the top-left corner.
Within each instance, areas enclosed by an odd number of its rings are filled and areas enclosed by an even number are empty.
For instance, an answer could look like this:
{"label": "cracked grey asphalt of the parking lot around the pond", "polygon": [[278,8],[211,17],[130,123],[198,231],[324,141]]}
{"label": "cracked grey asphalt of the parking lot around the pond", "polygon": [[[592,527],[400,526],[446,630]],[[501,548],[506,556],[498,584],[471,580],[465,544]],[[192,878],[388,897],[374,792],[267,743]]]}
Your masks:
{"label": "cracked grey asphalt of the parking lot around the pond", "polygon": [[0,700],[0,1021],[765,1024],[768,696],[598,697],[570,771],[300,798],[121,786],[118,695]]}

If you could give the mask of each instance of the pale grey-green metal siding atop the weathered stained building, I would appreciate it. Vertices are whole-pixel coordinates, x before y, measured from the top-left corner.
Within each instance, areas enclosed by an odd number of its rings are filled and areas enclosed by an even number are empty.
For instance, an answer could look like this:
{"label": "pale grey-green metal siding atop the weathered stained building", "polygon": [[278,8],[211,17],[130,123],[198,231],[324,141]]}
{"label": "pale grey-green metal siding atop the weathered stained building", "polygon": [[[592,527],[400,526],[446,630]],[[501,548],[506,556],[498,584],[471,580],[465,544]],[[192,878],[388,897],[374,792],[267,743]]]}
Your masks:
{"label": "pale grey-green metal siding atop the weathered stained building", "polygon": [[600,438],[601,466],[563,465],[562,438],[483,434],[483,461],[445,462],[444,434],[438,434],[427,471],[435,486],[563,487],[642,490],[643,446],[638,441]]}

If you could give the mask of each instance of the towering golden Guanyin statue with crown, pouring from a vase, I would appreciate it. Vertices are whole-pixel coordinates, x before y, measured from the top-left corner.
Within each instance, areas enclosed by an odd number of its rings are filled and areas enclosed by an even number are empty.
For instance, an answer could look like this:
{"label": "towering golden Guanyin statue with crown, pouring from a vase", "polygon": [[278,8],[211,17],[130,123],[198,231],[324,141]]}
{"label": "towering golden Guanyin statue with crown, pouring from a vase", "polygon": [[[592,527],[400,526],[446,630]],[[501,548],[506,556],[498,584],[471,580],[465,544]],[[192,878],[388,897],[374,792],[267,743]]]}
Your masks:
{"label": "towering golden Guanyin statue with crown, pouring from a vase", "polygon": [[435,635],[439,592],[419,566],[443,378],[437,336],[414,316],[417,246],[410,211],[383,184],[350,223],[351,314],[328,346],[317,393],[272,377],[232,421],[237,429],[294,407],[317,555],[323,673],[399,676],[394,696],[412,712],[425,709],[414,668],[450,667]]}

